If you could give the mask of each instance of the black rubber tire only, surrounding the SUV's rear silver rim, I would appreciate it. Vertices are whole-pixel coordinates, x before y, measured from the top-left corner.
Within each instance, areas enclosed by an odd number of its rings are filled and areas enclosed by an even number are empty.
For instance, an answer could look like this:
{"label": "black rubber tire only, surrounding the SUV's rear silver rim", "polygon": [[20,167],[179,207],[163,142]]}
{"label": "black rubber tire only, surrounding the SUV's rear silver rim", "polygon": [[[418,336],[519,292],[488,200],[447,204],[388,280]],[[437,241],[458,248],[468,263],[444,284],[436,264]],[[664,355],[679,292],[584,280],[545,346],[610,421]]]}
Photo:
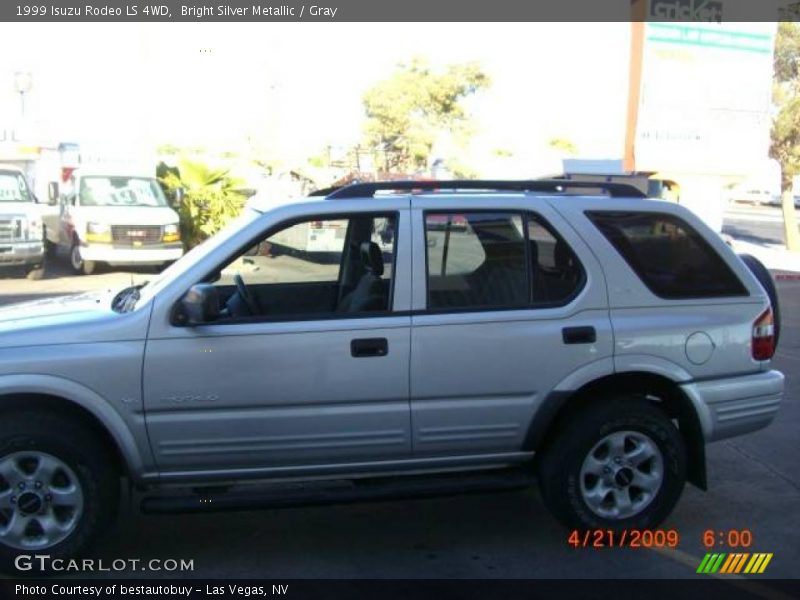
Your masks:
{"label": "black rubber tire only, surrounding the SUV's rear silver rim", "polygon": [[[539,461],[539,485],[545,505],[573,529],[648,529],[672,512],[686,481],[686,449],[672,421],[644,397],[597,398],[564,419]],[[644,434],[661,454],[663,476],[649,504],[627,518],[595,512],[581,491],[581,467],[595,446],[614,432]],[[636,493],[633,485],[629,495]]]}

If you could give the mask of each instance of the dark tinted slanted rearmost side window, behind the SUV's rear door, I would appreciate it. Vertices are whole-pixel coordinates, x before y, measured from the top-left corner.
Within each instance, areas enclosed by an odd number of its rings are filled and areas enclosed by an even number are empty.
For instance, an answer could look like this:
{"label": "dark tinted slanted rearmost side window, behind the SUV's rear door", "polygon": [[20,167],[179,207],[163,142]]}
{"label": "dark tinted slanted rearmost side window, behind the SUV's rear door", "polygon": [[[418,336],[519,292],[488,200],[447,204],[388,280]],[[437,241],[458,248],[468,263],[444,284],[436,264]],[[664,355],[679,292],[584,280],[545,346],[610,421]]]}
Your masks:
{"label": "dark tinted slanted rearmost side window, behind the SUV's rear door", "polygon": [[651,212],[590,211],[586,216],[657,296],[747,294],[725,261],[683,219]]}

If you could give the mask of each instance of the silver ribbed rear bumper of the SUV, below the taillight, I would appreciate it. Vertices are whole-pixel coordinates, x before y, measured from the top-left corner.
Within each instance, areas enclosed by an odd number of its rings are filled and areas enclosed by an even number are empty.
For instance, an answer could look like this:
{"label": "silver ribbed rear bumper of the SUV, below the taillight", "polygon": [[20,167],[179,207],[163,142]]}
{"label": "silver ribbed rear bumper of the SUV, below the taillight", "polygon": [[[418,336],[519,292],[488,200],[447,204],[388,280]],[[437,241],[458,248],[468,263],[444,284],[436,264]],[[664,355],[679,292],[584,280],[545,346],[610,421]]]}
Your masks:
{"label": "silver ribbed rear bumper of the SUV, below the taillight", "polygon": [[707,442],[769,425],[783,397],[783,373],[765,371],[681,386],[694,404]]}

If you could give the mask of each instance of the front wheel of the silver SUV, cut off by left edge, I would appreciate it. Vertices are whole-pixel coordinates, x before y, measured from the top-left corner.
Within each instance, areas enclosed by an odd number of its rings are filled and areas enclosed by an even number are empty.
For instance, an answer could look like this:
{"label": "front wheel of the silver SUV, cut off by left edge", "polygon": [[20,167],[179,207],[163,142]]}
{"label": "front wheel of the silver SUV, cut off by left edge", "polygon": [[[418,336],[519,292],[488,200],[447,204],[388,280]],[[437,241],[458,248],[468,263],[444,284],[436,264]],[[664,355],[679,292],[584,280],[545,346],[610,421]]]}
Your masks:
{"label": "front wheel of the silver SUV, cut off by left edge", "polygon": [[19,554],[74,557],[112,521],[120,484],[108,456],[75,419],[37,411],[3,415],[0,570],[16,572]]}

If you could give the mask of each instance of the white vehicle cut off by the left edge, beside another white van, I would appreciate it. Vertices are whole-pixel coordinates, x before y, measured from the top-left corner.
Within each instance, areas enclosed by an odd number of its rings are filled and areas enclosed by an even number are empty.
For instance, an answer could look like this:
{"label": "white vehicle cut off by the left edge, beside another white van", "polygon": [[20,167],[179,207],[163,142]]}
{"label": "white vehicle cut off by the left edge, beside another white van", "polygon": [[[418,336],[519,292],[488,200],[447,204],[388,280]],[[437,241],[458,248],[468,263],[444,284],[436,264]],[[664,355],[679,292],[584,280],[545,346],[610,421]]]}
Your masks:
{"label": "white vehicle cut off by the left edge, beside another white van", "polygon": [[41,278],[42,210],[22,171],[0,164],[0,267],[23,267],[28,279]]}

